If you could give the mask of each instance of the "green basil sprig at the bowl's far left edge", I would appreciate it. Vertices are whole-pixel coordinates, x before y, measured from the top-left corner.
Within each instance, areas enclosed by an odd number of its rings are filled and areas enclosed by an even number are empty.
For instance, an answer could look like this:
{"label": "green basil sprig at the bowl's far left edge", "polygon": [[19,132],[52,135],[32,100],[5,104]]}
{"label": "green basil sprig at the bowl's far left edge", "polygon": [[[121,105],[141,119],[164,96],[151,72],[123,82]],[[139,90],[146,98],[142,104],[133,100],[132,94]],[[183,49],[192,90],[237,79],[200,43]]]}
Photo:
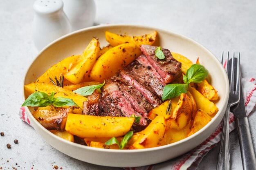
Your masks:
{"label": "green basil sprig at the bowl's far left edge", "polygon": [[29,95],[22,106],[32,106],[32,107],[46,107],[46,106],[78,106],[72,99],[65,97],[54,97],[54,92],[51,95],[47,95],[43,92],[35,92]]}

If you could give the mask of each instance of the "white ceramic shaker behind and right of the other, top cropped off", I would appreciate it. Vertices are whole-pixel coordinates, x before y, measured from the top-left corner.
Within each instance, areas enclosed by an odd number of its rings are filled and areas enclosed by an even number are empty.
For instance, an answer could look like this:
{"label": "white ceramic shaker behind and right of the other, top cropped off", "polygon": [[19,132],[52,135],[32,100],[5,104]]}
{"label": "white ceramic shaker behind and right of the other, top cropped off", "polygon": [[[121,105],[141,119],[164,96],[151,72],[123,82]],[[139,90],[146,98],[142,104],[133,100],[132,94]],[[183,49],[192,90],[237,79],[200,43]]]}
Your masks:
{"label": "white ceramic shaker behind and right of the other, top cropped off", "polygon": [[72,31],[93,26],[96,7],[94,0],[63,0],[64,12],[72,25]]}

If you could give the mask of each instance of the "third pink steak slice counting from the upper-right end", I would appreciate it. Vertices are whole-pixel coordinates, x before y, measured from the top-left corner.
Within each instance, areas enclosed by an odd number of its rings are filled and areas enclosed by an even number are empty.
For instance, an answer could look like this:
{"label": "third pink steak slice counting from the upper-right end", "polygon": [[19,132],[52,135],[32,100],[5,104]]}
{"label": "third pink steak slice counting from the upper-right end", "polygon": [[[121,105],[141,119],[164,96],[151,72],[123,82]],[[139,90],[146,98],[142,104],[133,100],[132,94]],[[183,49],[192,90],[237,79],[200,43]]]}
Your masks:
{"label": "third pink steak slice counting from the upper-right end", "polygon": [[148,102],[153,105],[153,107],[157,107],[162,104],[162,100],[154,95],[153,90],[148,85],[148,83],[144,81],[144,79],[137,76],[136,74],[128,73],[124,70],[120,72],[120,75],[126,80],[126,83],[142,93],[144,97],[148,100]]}

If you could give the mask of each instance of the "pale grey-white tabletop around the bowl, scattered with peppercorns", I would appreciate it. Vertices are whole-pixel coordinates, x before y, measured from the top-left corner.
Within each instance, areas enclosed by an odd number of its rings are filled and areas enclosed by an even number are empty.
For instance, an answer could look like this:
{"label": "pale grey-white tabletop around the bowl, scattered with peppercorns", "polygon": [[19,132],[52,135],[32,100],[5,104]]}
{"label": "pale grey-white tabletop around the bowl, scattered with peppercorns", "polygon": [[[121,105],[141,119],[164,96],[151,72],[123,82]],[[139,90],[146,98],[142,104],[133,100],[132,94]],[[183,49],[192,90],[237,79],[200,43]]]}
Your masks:
{"label": "pale grey-white tabletop around the bowl, scattered with peppercorns", "polygon": [[[38,53],[31,38],[33,2],[0,1],[0,131],[5,133],[0,137],[0,167],[49,170],[57,165],[63,170],[121,169],[73,159],[52,148],[32,127],[20,120],[22,79],[28,64]],[[96,24],[140,24],[175,31],[203,44],[219,59],[222,50],[240,51],[243,77],[256,77],[255,0],[96,0],[96,6]],[[256,146],[255,110],[249,123]],[[18,139],[19,144],[14,144],[14,139]],[[7,149],[8,143],[11,149]],[[230,134],[230,155],[231,169],[241,170],[236,131]],[[204,157],[198,169],[214,170],[217,156],[218,147]],[[168,168],[162,168],[165,169]]]}

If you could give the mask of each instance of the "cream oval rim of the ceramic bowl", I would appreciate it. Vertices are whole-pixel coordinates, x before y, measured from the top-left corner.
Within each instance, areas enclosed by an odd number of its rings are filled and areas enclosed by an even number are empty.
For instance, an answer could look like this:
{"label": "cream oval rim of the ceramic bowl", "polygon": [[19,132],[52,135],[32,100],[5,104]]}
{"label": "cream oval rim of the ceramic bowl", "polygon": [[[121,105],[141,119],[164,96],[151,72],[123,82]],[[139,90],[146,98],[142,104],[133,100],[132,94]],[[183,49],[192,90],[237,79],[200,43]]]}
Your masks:
{"label": "cream oval rim of the ceramic bowl", "polygon": [[[212,56],[212,59],[215,60],[216,64],[221,66],[220,67],[221,68],[221,72],[222,72],[222,74],[225,77],[225,79],[223,81],[225,81],[225,84],[227,84],[227,86],[225,87],[226,94],[223,95],[224,103],[227,103],[228,98],[229,98],[229,95],[228,95],[229,94],[229,80],[228,80],[228,77],[227,77],[227,74],[226,74],[226,71],[225,71],[224,67],[222,67],[222,65],[221,65],[220,61],[218,60],[218,58],[209,49],[207,49],[206,47],[204,47],[202,44],[198,43],[197,41],[193,40],[192,38],[189,38],[189,37],[187,37],[185,35],[182,35],[180,33],[175,32],[175,31],[161,29],[161,28],[157,28],[157,27],[153,27],[153,26],[143,26],[143,25],[138,25],[138,24],[106,24],[106,25],[91,26],[91,27],[87,27],[87,28],[84,28],[84,29],[80,29],[80,30],[68,33],[68,34],[63,35],[62,37],[52,41],[47,46],[45,46],[41,51],[38,52],[36,57],[34,57],[32,62],[27,67],[27,70],[25,72],[25,75],[23,77],[23,82],[22,82],[22,94],[21,94],[22,95],[22,101],[23,102],[25,101],[24,85],[25,85],[25,79],[26,79],[27,73],[29,71],[29,68],[36,61],[38,56],[41,55],[43,53],[43,51],[45,51],[47,48],[49,48],[52,44],[54,44],[54,43],[56,43],[56,42],[58,42],[58,41],[60,41],[60,40],[62,40],[64,38],[66,38],[66,37],[75,35],[77,33],[83,32],[83,31],[93,30],[93,29],[102,28],[102,27],[105,27],[106,30],[107,30],[108,27],[119,27],[119,26],[122,26],[122,27],[124,27],[124,26],[131,26],[131,27],[137,27],[137,28],[152,29],[152,30],[156,30],[156,31],[161,31],[161,32],[168,33],[168,34],[173,34],[173,35],[178,36],[178,37],[180,37],[180,38],[182,38],[184,40],[187,40],[187,41],[189,41],[189,42],[191,42],[191,43],[193,43],[193,44],[195,44],[197,46],[200,46],[200,48],[204,49],[205,51],[207,51],[209,53],[209,55]],[[84,146],[84,145],[81,145],[81,144],[76,144],[76,143],[71,142],[71,141],[67,141],[65,139],[62,139],[61,137],[58,137],[58,136],[54,135],[52,132],[50,132],[49,130],[44,128],[38,121],[36,121],[36,119],[33,117],[32,113],[30,112],[30,110],[29,110],[29,108],[27,106],[25,106],[25,111],[26,111],[27,114],[31,115],[33,120],[30,120],[30,121],[36,122],[36,125],[39,126],[41,128],[41,130],[46,132],[51,137],[54,137],[56,140],[61,140],[62,142],[64,142],[67,145],[71,145],[71,146],[78,147],[78,148],[81,148],[81,149],[94,150],[94,151],[115,152],[115,153],[126,154],[126,153],[137,153],[137,152],[141,153],[141,152],[151,152],[151,151],[154,151],[154,150],[162,150],[162,149],[169,148],[169,147],[175,147],[177,145],[182,144],[183,142],[189,141],[190,139],[200,135],[204,130],[206,130],[209,126],[211,126],[211,124],[213,124],[213,122],[222,114],[222,110],[224,108],[225,108],[225,104],[222,105],[222,108],[219,108],[218,113],[211,119],[211,121],[206,126],[204,126],[198,132],[195,132],[193,135],[191,135],[189,137],[186,137],[186,138],[184,138],[184,139],[182,139],[180,141],[174,142],[172,144],[167,144],[167,145],[164,145],[164,146],[157,146],[157,147],[154,147],[154,148],[137,149],[137,150],[115,150],[115,149],[94,148],[94,147],[90,147],[90,146]]]}

